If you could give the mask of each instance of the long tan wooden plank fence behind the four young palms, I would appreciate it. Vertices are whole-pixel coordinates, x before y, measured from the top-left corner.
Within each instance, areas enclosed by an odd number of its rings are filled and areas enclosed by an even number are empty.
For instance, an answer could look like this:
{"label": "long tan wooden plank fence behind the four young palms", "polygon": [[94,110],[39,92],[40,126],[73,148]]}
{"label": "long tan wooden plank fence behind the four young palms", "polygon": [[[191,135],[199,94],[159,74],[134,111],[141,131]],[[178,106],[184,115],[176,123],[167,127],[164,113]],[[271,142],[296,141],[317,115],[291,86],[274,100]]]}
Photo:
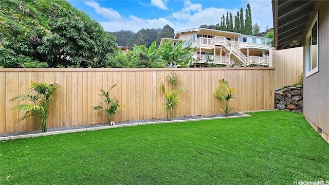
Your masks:
{"label": "long tan wooden plank fence behind the four young palms", "polygon": [[[106,123],[106,117],[91,110],[100,102],[100,89],[113,84],[113,97],[125,104],[115,115],[115,122],[165,118],[163,99],[158,85],[171,71],[180,75],[178,86],[187,87],[181,95],[182,104],[173,117],[216,115],[220,101],[215,99],[218,80],[226,79],[238,89],[231,100],[233,112],[272,109],[274,68],[182,68],[182,69],[0,69],[0,133],[40,130],[39,120],[17,121],[24,113],[15,112],[17,102],[10,99],[26,94],[31,81],[58,83],[56,100],[47,120],[47,127],[66,127]],[[169,87],[169,83],[166,82]]]}

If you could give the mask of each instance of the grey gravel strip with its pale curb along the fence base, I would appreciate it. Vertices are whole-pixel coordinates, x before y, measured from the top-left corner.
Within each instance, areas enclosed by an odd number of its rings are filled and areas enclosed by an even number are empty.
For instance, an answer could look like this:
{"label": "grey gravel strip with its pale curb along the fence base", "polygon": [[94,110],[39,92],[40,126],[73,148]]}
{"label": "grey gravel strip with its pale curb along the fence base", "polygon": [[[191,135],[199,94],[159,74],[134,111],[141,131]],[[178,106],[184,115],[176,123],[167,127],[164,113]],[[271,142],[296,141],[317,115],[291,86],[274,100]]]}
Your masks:
{"label": "grey gravel strip with its pale curb along the fence base", "polygon": [[[98,130],[104,130],[108,128],[119,128],[119,127],[126,127],[126,126],[138,126],[138,125],[148,125],[148,124],[163,124],[163,123],[179,123],[179,122],[189,122],[189,121],[202,121],[202,120],[213,120],[213,119],[228,119],[228,118],[242,118],[242,117],[249,117],[251,115],[247,115],[244,113],[233,113],[230,114],[233,116],[224,117],[223,115],[216,115],[216,116],[189,116],[189,117],[180,117],[177,120],[171,120],[171,121],[162,121],[163,119],[156,119],[145,122],[135,122],[134,121],[128,121],[128,122],[122,122],[117,123],[116,125],[109,126],[108,124],[99,124],[101,126],[95,126],[90,125],[93,127],[87,127],[87,128],[77,128],[77,129],[71,129],[71,130],[62,130],[62,131],[53,131],[53,132],[46,132],[46,133],[36,133],[36,134],[22,134],[22,135],[13,135],[13,136],[5,136],[0,137],[0,141],[6,141],[6,140],[12,140],[12,139],[20,139],[20,138],[33,138],[33,137],[40,137],[40,136],[49,136],[49,135],[58,135],[58,134],[66,134],[66,133],[76,133],[76,132],[85,132],[85,131],[98,131]],[[190,119],[184,119],[184,118],[190,118]],[[133,122],[133,123],[130,123]],[[89,125],[86,125],[89,126]],[[65,129],[65,127],[63,128]],[[50,129],[49,129],[50,130]]]}

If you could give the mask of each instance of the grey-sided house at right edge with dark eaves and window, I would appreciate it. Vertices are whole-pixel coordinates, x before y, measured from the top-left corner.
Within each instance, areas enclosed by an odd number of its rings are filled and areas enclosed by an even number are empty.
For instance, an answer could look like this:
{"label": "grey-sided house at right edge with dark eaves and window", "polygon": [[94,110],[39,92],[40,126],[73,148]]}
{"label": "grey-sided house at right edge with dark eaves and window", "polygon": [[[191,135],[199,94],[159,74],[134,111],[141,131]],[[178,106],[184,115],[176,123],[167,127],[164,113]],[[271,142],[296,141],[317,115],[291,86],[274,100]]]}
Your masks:
{"label": "grey-sided house at right edge with dark eaves and window", "polygon": [[329,142],[329,1],[272,1],[276,49],[304,46],[303,115]]}

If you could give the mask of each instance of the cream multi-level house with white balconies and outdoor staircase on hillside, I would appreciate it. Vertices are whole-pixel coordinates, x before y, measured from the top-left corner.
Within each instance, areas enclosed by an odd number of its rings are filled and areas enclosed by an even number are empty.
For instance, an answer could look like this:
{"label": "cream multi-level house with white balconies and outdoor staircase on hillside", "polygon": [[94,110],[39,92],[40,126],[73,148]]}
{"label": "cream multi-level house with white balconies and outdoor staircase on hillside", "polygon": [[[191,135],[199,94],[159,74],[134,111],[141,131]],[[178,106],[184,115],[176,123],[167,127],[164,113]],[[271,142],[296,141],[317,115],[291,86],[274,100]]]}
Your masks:
{"label": "cream multi-level house with white balconies and outdoor staircase on hillside", "polygon": [[[223,66],[268,66],[271,39],[208,28],[176,32],[174,43],[183,41],[183,47],[196,47],[190,67],[204,67],[209,63]],[[160,43],[160,44],[161,44]]]}

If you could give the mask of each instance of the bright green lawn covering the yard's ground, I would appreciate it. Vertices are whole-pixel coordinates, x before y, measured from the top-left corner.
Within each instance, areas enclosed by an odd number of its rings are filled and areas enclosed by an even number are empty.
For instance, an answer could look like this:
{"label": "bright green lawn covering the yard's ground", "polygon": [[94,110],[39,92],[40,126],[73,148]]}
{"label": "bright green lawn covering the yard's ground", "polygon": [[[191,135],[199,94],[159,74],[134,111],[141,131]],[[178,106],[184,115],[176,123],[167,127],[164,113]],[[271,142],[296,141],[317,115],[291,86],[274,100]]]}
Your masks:
{"label": "bright green lawn covering the yard's ground", "polygon": [[329,144],[303,115],[280,111],[250,115],[1,142],[0,184],[329,180]]}

